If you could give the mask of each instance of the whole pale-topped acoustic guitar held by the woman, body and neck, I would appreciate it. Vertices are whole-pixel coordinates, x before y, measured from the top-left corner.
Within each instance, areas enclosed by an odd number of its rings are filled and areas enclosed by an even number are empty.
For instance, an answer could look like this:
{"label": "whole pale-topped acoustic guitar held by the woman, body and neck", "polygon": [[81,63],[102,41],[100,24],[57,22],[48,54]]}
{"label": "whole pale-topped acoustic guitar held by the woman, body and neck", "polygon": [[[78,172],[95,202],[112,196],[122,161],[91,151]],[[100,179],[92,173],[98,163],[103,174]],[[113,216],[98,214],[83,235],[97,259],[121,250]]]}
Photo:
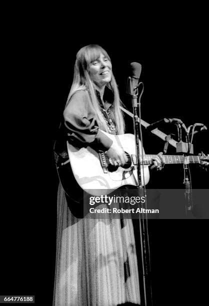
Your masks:
{"label": "whole pale-topped acoustic guitar held by the woman, body and neck", "polygon": [[[66,169],[70,168],[76,183],[85,192],[99,196],[105,195],[123,185],[138,185],[137,168],[136,168],[136,155],[135,155],[135,138],[133,134],[112,135],[104,131],[112,141],[116,141],[120,145],[128,158],[128,161],[123,166],[113,166],[109,162],[109,157],[104,151],[95,151],[90,146],[76,148],[72,144],[67,142],[67,152],[69,159],[59,166],[57,171],[62,186],[67,194],[70,194],[74,188],[65,179],[63,181],[62,173],[66,172]],[[148,165],[153,163],[153,157],[155,154],[145,154],[141,152],[140,148],[140,164],[141,164],[141,183],[147,184],[149,180]],[[183,156],[183,155],[162,155],[165,164],[177,164],[177,163],[200,163],[201,160],[208,160],[207,156]],[[64,166],[65,171],[62,170]]]}

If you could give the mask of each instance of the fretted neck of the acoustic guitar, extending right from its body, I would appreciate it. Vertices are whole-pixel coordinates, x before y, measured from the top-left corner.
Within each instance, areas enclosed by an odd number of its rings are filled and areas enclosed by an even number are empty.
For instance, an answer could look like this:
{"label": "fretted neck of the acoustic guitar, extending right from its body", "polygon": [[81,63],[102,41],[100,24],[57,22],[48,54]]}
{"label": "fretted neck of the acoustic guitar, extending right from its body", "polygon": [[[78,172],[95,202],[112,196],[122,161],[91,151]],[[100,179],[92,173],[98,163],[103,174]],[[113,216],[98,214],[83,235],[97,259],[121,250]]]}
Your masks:
{"label": "fretted neck of the acoustic guitar, extending right from its body", "polygon": [[[158,155],[144,155],[143,160],[140,157],[140,162],[143,164],[151,164],[153,162],[153,157],[157,157]],[[158,156],[159,157],[159,156]],[[164,159],[164,163],[200,163],[200,156],[183,156],[183,155],[162,155]]]}

